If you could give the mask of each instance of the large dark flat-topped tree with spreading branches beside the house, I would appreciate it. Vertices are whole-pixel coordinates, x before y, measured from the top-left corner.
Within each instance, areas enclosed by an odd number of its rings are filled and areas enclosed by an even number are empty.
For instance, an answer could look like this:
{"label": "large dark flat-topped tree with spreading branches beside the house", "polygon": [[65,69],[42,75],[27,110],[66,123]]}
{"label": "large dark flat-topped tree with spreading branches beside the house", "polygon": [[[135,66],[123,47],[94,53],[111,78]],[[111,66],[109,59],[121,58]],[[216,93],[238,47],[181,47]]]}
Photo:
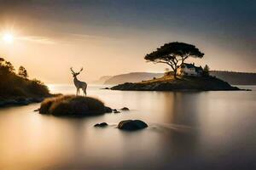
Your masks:
{"label": "large dark flat-topped tree with spreading branches beside the house", "polygon": [[150,54],[147,54],[144,59],[156,63],[164,63],[170,65],[174,72],[174,77],[177,77],[177,67],[189,57],[202,58],[203,53],[195,45],[184,42],[166,43],[160,48],[157,48]]}

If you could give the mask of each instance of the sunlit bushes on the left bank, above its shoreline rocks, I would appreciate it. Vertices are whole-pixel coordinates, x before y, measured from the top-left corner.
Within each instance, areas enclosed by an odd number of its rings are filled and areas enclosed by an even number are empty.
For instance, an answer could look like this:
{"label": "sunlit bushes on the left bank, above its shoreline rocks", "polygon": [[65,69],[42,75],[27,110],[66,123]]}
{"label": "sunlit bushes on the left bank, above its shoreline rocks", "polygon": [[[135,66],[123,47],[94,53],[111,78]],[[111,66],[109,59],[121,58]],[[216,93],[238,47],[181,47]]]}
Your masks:
{"label": "sunlit bushes on the left bank, above its shoreline rocks", "polygon": [[[24,70],[26,69],[24,68]],[[43,82],[36,79],[28,80],[26,77],[16,75],[14,66],[3,58],[0,58],[0,80],[0,96],[4,98],[49,95],[49,89]]]}

